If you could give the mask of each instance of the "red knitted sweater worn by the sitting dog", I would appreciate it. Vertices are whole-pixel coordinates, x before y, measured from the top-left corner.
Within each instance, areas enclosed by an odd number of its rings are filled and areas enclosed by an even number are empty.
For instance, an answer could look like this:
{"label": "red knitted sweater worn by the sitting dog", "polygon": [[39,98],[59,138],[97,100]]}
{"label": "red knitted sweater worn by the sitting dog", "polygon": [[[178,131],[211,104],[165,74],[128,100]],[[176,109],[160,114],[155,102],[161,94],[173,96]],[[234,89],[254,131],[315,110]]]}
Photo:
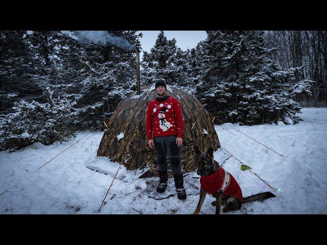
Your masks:
{"label": "red knitted sweater worn by the sitting dog", "polygon": [[209,176],[201,176],[200,184],[203,191],[215,195],[217,190],[222,190],[222,195],[229,195],[239,199],[243,203],[243,195],[240,185],[234,177],[224,168],[219,167],[216,173]]}

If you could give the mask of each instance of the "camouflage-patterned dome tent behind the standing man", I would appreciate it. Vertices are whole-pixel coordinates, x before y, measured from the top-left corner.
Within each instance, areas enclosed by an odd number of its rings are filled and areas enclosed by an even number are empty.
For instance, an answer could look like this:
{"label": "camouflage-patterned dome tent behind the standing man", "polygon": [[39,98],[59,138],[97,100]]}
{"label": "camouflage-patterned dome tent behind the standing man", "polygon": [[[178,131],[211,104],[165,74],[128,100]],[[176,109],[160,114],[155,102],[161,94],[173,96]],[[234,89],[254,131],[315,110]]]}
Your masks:
{"label": "camouflage-patterned dome tent behind the standing man", "polygon": [[[120,102],[109,120],[105,122],[107,129],[101,139],[97,156],[108,156],[111,161],[122,162],[130,170],[151,167],[140,178],[157,175],[157,171],[154,170],[157,167],[157,153],[155,149],[149,147],[146,134],[147,106],[156,95],[153,83],[142,87],[139,95],[135,91]],[[209,147],[214,151],[220,148],[218,135],[212,124],[213,118],[193,95],[169,85],[167,95],[175,97],[182,109],[184,121],[183,143],[180,146],[182,173],[195,171],[197,165],[194,145],[202,152],[206,152]],[[197,125],[204,132],[197,129]],[[204,139],[203,134],[208,134],[212,140]],[[171,175],[170,164],[168,166]]]}

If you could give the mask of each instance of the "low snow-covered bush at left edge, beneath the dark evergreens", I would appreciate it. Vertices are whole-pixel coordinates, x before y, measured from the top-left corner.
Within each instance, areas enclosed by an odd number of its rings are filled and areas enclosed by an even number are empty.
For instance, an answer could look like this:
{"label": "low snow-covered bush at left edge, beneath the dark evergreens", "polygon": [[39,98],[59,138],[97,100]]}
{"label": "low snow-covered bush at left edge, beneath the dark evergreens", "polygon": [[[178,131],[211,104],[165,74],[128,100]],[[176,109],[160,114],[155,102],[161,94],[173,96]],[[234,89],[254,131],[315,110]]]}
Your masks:
{"label": "low snow-covered bush at left edge, beneath the dark evergreens", "polygon": [[67,126],[72,111],[67,100],[54,101],[53,106],[21,100],[13,109],[13,113],[0,116],[0,150],[16,150],[34,142],[48,145],[76,135]]}

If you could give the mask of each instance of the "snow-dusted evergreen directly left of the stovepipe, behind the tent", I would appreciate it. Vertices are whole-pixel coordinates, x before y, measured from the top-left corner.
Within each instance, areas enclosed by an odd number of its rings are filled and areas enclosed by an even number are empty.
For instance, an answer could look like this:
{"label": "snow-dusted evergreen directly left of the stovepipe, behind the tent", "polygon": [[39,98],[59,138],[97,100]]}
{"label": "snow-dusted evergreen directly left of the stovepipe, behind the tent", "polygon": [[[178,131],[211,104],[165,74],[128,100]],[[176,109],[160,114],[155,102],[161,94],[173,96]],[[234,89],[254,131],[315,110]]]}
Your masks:
{"label": "snow-dusted evergreen directly left of the stovepipe, behind the tent", "polygon": [[[139,45],[135,31],[114,32]],[[84,44],[79,55],[82,69],[76,101],[78,128],[97,128],[107,120],[116,106],[136,90],[136,55],[116,46]]]}

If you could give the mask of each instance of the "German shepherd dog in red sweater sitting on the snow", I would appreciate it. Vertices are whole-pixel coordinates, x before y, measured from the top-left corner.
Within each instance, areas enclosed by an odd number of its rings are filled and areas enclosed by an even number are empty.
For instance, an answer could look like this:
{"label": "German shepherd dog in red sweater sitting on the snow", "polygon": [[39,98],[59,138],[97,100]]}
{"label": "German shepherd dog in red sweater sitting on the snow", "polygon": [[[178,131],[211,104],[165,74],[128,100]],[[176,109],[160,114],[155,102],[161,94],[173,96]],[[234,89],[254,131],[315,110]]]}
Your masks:
{"label": "German shepherd dog in red sweater sitting on the snow", "polygon": [[220,214],[221,204],[224,205],[223,212],[228,212],[239,210],[242,203],[264,201],[276,197],[273,193],[267,191],[243,198],[241,187],[235,178],[214,160],[212,147],[208,149],[206,154],[202,153],[197,146],[195,146],[195,151],[197,155],[196,163],[198,164],[197,174],[201,176],[201,188],[199,203],[193,214],[200,212],[206,193],[216,197],[216,201],[212,203],[213,206],[216,206],[216,214]]}

